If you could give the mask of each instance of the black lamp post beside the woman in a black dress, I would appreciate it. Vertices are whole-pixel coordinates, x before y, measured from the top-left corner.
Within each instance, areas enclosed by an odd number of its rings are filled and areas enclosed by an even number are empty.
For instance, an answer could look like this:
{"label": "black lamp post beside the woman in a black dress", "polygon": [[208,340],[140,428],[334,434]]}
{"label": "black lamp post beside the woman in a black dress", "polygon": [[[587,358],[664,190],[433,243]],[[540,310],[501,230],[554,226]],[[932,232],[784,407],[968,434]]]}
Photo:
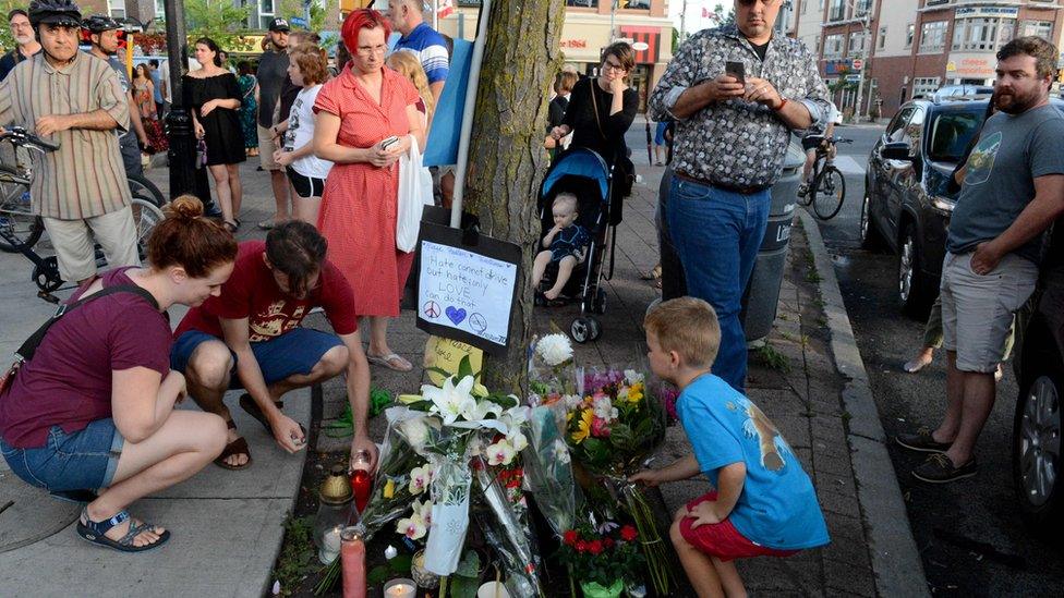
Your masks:
{"label": "black lamp post beside the woman in a black dress", "polygon": [[[196,188],[196,143],[192,131],[192,117],[184,105],[181,76],[186,66],[185,46],[188,35],[184,28],[184,0],[166,0],[164,4],[167,26],[167,64],[170,68],[170,94],[173,103],[166,118],[167,136],[170,149],[170,198]],[[204,203],[209,197],[204,197]]]}

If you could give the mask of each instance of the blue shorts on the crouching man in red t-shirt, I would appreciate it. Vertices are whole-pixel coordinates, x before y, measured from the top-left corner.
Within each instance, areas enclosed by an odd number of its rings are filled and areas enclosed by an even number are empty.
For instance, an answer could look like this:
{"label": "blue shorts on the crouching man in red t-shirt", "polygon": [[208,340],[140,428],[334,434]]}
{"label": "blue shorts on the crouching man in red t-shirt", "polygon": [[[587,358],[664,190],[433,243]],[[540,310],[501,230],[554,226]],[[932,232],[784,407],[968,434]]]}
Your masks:
{"label": "blue shorts on the crouching man in red t-shirt", "polygon": [[[184,373],[189,368],[192,353],[200,343],[206,341],[225,342],[218,337],[198,330],[189,330],[178,337],[170,350],[170,368]],[[251,351],[255,354],[258,368],[263,371],[263,380],[267,385],[273,385],[297,374],[304,376],[310,374],[330,349],[342,344],[343,341],[336,334],[311,328],[294,328],[271,340],[251,343]],[[229,353],[233,357],[229,388],[243,388],[237,377],[237,354],[232,350]]]}

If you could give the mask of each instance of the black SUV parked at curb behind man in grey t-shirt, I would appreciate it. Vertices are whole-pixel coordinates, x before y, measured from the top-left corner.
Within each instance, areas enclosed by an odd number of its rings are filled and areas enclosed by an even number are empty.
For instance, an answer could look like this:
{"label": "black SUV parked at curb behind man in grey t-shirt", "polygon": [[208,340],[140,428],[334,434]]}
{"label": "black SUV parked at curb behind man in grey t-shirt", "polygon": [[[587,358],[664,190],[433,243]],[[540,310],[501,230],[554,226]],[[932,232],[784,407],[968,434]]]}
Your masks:
{"label": "black SUV parked at curb behind man in grey t-shirt", "polygon": [[[982,126],[989,98],[914,100],[898,110],[868,158],[861,246],[898,256],[898,301],[922,317],[939,294],[946,227],[956,205],[950,176]],[[1053,99],[1057,109],[1064,102]]]}

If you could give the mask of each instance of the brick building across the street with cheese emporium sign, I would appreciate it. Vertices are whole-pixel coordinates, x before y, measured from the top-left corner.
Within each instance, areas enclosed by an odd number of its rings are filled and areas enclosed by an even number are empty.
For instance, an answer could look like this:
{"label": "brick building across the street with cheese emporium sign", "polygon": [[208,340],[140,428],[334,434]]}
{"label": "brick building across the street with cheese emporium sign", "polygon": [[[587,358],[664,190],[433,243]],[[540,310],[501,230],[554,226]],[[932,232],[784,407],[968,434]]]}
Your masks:
{"label": "brick building across the street with cheese emporium sign", "polygon": [[946,85],[992,85],[1003,45],[1037,35],[1060,47],[1064,30],[1061,0],[791,3],[788,34],[819,52],[836,106],[844,113],[859,110],[883,118]]}

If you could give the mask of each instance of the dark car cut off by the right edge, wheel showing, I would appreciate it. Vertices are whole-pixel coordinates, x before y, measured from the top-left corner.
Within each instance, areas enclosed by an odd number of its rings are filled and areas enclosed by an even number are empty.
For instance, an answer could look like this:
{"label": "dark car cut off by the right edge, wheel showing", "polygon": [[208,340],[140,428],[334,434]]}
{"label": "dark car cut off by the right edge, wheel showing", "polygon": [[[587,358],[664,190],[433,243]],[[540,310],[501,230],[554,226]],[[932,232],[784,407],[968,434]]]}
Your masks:
{"label": "dark car cut off by the right edge, wheel showing", "polygon": [[[1017,314],[1013,369],[1013,480],[1020,514],[1036,532],[1064,527],[1064,219],[1056,222],[1038,290]],[[1059,536],[1057,536],[1059,537]]]}

